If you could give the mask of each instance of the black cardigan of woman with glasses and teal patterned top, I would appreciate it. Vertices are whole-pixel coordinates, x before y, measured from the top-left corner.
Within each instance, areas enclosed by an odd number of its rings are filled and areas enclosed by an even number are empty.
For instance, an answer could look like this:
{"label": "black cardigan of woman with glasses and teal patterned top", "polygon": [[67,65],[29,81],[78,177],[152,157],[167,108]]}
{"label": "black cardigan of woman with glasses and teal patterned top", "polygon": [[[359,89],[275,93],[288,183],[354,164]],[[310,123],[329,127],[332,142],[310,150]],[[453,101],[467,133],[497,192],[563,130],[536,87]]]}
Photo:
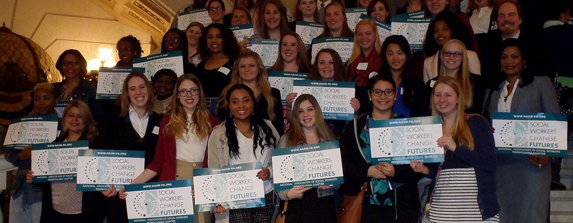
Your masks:
{"label": "black cardigan of woman with glasses and teal patterned top", "polygon": [[[362,157],[359,150],[360,132],[366,126],[366,118],[370,114],[364,114],[354,121],[348,123],[342,136],[340,136],[340,153],[342,155],[342,170],[344,172],[344,183],[340,187],[343,195],[356,195],[360,192],[360,187],[364,182],[370,182],[367,177],[368,167],[372,166]],[[397,209],[418,209],[420,201],[418,196],[418,181],[422,179],[422,174],[415,173],[410,165],[394,165],[394,177],[388,177],[388,181],[403,183],[395,188]],[[367,187],[366,194],[372,194],[370,187]]]}

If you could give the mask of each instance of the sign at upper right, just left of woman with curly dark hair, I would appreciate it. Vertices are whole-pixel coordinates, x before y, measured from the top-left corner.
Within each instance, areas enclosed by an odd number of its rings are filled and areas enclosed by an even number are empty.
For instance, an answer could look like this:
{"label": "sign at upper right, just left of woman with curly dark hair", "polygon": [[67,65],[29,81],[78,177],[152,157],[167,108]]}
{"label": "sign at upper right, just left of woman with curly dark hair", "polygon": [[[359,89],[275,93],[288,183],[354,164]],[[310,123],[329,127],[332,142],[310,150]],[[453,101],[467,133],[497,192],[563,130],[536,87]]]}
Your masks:
{"label": "sign at upper right, just left of woman with curly dark hair", "polygon": [[433,18],[392,17],[392,34],[406,37],[410,48],[421,51],[428,26]]}

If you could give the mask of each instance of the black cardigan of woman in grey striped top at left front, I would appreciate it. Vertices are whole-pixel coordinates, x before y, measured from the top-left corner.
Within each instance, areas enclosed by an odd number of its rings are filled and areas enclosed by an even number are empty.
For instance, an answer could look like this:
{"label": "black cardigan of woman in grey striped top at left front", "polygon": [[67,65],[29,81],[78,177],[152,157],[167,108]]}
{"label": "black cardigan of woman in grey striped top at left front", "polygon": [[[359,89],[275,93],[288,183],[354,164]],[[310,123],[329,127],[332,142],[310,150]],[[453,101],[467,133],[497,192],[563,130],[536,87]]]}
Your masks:
{"label": "black cardigan of woman in grey striped top at left front", "polygon": [[[54,142],[64,142],[68,138],[67,132],[60,135]],[[78,140],[87,140],[85,132]],[[93,142],[98,142],[97,139]],[[89,143],[89,147],[93,148],[96,143]],[[42,187],[42,215],[40,223],[52,223],[60,220],[56,219],[56,210],[52,206],[52,185],[47,183],[38,183]],[[100,192],[83,192],[81,199],[81,222],[101,223],[104,220],[103,215],[103,200],[104,196]]]}

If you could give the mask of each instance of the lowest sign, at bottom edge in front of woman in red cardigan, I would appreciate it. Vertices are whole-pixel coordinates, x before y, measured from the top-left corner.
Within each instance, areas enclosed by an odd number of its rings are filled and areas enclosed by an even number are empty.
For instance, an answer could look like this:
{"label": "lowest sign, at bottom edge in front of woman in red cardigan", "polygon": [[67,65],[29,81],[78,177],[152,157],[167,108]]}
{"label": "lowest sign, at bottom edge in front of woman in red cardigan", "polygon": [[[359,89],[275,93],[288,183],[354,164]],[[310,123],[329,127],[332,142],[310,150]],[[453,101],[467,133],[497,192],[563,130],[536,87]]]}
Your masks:
{"label": "lowest sign, at bottom edge in front of woman in red cardigan", "polygon": [[192,222],[191,179],[125,185],[129,223]]}

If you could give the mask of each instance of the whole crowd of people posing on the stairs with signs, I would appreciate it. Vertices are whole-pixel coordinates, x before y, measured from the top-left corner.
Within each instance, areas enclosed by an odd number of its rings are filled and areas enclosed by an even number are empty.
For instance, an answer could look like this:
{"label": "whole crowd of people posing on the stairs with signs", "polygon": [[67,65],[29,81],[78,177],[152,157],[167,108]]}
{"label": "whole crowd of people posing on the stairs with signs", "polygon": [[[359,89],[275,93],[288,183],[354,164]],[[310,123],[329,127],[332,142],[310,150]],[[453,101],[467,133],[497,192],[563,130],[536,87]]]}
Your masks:
{"label": "whole crowd of people posing on the stairs with signs", "polygon": [[[237,0],[229,14],[225,2],[211,0],[206,7],[212,24],[191,22],[162,39],[162,52],[183,52],[184,75],[161,69],[149,80],[132,72],[116,101],[96,100],[96,84],[83,79],[85,58],[66,50],[56,62],[64,81],[34,88],[34,115],[56,115],[56,104],[67,103],[54,142],[88,140],[93,149],[145,151],[146,169],[132,183],[193,179],[194,169],[261,162],[257,177],[265,206],[217,205],[213,212],[196,212],[194,222],[272,222],[277,215],[286,222],[336,222],[342,195],[363,190],[361,222],[547,222],[552,158],[495,154],[490,118],[493,112],[560,113],[547,75],[567,74],[570,62],[539,64],[558,54],[531,49],[534,34],[520,29],[523,10],[516,2],[469,0],[469,16],[460,12],[460,1],[407,2],[399,12],[425,10],[434,17],[423,52],[413,52],[403,36],[380,41],[375,19],[391,22],[386,0],[355,2],[372,17],[358,22],[355,32],[337,0],[298,0],[294,16],[279,0]],[[552,29],[547,38],[572,29],[565,22],[569,10],[560,6],[545,22],[544,29]],[[354,37],[351,57],[344,63],[336,50],[320,49],[310,61],[299,34],[289,30],[293,19],[323,22],[319,37]],[[227,26],[247,23],[256,27],[255,38],[279,40],[270,68]],[[143,51],[137,38],[126,36],[117,53],[116,66],[129,67]],[[282,105],[279,89],[268,81],[270,71],[354,81],[355,96],[348,101],[354,120],[324,120],[308,94],[287,92]],[[419,116],[441,117],[437,145],[444,148],[443,163],[372,162],[370,120]],[[273,189],[273,149],[335,140],[342,185]],[[129,193],[123,188],[81,192],[73,181],[31,183],[31,147],[7,151],[6,159],[18,166],[10,222],[127,222]],[[418,192],[424,177],[434,182],[426,189],[429,201]]]}

